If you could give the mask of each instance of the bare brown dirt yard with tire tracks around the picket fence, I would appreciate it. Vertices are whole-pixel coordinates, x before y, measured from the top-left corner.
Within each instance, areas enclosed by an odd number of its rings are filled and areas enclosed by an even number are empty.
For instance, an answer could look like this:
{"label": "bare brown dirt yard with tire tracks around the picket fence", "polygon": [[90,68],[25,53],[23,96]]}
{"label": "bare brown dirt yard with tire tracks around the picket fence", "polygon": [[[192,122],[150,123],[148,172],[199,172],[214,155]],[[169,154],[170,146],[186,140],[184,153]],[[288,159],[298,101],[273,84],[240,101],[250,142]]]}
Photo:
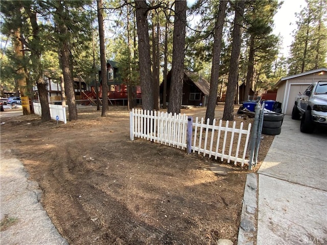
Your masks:
{"label": "bare brown dirt yard with tire tracks around the picket fence", "polygon": [[[222,112],[220,105],[216,118]],[[205,108],[182,113],[202,117]],[[35,115],[1,121],[2,152],[10,149],[39,183],[44,209],[69,244],[237,243],[247,168],[226,164],[228,175],[216,175],[209,166],[217,160],[130,141],[126,107],[110,107],[107,117],[80,110],[66,125]],[[262,139],[260,162],[272,140]]]}

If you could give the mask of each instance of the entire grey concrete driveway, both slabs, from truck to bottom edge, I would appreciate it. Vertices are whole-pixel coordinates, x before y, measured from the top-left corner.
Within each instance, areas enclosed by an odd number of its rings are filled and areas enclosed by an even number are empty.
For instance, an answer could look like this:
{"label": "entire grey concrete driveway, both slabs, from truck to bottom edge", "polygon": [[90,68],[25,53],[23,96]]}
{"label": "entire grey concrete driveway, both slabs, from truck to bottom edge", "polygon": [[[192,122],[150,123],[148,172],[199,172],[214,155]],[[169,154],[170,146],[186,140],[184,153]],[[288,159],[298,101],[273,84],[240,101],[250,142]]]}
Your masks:
{"label": "entire grey concrete driveway, both slabs, from truck to bottom edge", "polygon": [[285,116],[261,165],[256,244],[327,243],[327,130]]}

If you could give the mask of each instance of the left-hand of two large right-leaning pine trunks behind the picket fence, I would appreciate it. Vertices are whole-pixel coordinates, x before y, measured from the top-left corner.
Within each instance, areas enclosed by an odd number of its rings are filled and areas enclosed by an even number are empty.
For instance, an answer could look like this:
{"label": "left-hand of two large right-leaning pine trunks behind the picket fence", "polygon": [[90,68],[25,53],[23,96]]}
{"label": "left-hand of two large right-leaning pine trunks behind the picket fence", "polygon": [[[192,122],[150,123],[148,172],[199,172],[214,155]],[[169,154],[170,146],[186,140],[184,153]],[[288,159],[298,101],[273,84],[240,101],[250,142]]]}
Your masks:
{"label": "left-hand of two large right-leaning pine trunks behind the picket fence", "polygon": [[209,91],[208,105],[205,112],[205,121],[207,120],[207,118],[209,118],[211,125],[213,124],[213,120],[215,118],[215,109],[217,104],[220,51],[222,46],[222,33],[223,33],[224,19],[226,16],[226,6],[227,6],[227,1],[220,1],[218,17],[215,26],[210,91]]}

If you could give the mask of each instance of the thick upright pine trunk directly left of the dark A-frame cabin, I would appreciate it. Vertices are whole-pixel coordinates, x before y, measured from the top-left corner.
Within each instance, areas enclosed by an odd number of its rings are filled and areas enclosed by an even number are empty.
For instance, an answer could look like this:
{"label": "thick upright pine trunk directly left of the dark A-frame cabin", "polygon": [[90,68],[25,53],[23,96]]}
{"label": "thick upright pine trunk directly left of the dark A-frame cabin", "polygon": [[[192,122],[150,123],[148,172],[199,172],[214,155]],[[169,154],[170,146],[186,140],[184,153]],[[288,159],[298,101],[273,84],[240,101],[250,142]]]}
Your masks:
{"label": "thick upright pine trunk directly left of the dark A-frame cabin", "polygon": [[172,78],[168,113],[180,113],[184,78],[186,1],[175,1]]}

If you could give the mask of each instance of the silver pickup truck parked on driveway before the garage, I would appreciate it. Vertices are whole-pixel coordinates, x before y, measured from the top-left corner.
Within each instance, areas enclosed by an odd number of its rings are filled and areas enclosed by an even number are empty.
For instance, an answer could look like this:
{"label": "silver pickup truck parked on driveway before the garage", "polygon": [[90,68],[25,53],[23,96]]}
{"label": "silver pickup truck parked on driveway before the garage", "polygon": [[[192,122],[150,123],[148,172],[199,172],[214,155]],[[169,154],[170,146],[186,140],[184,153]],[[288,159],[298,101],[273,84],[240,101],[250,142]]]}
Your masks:
{"label": "silver pickup truck parked on driveway before the garage", "polygon": [[316,125],[327,126],[327,81],[312,83],[295,97],[292,119],[300,118],[303,133],[312,133]]}

